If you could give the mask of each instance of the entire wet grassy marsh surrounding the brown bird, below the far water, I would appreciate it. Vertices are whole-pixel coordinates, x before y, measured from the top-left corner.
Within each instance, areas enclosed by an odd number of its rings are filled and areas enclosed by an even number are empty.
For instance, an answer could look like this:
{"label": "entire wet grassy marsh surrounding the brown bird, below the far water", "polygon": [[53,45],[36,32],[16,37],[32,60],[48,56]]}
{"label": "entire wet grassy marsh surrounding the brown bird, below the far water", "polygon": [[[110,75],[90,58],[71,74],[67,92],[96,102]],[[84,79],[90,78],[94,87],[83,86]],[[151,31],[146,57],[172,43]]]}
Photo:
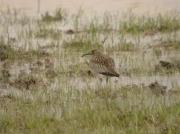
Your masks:
{"label": "entire wet grassy marsh surrounding the brown bird, below the far water", "polygon": [[[158,81],[180,91],[180,70],[155,70],[161,58],[180,56],[179,16],[106,14],[84,22],[81,11],[39,19],[14,12],[0,20],[0,133],[180,133],[179,94],[147,88]],[[69,24],[75,33],[67,35],[60,28]],[[115,60],[119,79],[88,74],[81,55],[92,49]]]}

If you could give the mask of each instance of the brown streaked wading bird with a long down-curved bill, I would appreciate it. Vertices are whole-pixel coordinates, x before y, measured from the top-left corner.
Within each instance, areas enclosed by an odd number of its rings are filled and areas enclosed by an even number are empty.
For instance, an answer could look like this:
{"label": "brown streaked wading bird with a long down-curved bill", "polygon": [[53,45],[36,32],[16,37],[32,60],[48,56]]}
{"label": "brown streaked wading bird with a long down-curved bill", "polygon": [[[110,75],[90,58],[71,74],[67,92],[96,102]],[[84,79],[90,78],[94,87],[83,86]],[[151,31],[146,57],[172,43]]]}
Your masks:
{"label": "brown streaked wading bird with a long down-curved bill", "polygon": [[106,82],[108,82],[109,77],[119,77],[119,74],[115,71],[114,60],[111,57],[101,53],[97,49],[83,54],[82,57],[88,55],[90,56],[89,67],[94,74],[106,76]]}

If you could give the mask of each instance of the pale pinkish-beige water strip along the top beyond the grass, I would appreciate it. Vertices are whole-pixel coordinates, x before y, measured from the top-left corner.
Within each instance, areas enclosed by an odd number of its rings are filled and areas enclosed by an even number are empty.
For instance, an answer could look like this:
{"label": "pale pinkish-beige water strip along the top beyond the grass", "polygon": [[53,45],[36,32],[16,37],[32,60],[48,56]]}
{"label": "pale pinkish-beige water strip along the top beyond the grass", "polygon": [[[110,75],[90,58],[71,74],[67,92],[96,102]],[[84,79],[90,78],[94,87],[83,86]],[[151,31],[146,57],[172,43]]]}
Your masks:
{"label": "pale pinkish-beige water strip along the top beyond the grass", "polygon": [[[40,0],[40,12],[53,11],[62,7],[74,13],[80,8],[92,13],[124,12],[133,9],[138,14],[180,11],[180,0]],[[15,7],[30,14],[38,12],[38,0],[0,0],[0,7]]]}

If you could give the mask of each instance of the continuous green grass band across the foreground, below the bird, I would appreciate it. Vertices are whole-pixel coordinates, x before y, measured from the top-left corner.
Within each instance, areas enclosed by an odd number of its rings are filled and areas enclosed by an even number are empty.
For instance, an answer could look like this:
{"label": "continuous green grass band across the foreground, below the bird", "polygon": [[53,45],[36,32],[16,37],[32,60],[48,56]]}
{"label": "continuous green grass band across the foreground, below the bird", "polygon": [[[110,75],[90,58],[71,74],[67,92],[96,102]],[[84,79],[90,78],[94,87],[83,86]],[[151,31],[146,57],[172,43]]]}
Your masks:
{"label": "continuous green grass band across the foreground, below the bird", "polygon": [[[1,100],[4,111],[0,115],[1,133],[179,133],[180,103],[171,106],[158,100],[156,104],[144,107],[144,102],[131,105],[145,97],[133,89],[108,88],[60,90],[42,97],[28,99],[11,98]],[[35,92],[34,92],[35,93]],[[136,98],[130,98],[134,95]],[[121,96],[127,95],[126,99]],[[129,103],[128,103],[129,101]],[[4,103],[2,103],[4,102]],[[159,103],[159,104],[158,104]],[[138,105],[138,106],[136,106]],[[123,107],[122,107],[123,106]],[[57,111],[56,111],[57,110]]]}

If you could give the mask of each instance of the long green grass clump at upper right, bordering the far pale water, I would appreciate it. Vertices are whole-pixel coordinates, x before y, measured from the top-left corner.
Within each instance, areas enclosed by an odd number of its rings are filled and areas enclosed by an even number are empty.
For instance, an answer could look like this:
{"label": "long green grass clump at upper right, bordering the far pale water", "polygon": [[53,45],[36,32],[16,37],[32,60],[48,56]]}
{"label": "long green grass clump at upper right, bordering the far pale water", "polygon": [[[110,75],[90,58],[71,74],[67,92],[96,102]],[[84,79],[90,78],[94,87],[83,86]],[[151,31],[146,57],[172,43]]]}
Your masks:
{"label": "long green grass clump at upper right, bordering the far pale water", "polygon": [[124,33],[138,34],[145,32],[172,32],[180,29],[180,17],[158,15],[156,17],[129,15],[120,22],[119,30]]}

